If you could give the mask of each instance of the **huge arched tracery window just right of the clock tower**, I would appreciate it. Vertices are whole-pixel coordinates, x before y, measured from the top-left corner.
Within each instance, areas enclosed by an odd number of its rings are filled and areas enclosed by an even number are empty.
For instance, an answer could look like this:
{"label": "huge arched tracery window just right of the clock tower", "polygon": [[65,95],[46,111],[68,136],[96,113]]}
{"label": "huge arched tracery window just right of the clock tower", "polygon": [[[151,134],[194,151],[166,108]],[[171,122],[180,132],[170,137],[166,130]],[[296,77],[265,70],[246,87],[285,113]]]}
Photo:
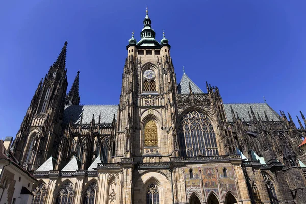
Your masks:
{"label": "huge arched tracery window just right of the clock tower", "polygon": [[212,123],[201,112],[191,110],[183,114],[179,125],[179,142],[182,156],[219,155]]}

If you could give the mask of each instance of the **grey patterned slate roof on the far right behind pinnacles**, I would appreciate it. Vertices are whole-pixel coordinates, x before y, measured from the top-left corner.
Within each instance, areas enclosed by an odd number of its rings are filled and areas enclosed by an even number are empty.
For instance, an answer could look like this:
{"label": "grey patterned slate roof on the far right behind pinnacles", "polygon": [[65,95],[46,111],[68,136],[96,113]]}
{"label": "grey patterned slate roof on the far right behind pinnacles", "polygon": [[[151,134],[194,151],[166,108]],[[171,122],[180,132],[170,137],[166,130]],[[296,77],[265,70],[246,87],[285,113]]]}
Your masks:
{"label": "grey patterned slate roof on the far right behind pinnacles", "polygon": [[264,114],[264,111],[266,111],[266,114],[269,118],[269,121],[271,121],[272,119],[274,121],[279,121],[279,115],[266,103],[224,104],[226,117],[227,117],[227,120],[230,121],[230,122],[233,122],[231,108],[230,108],[231,105],[232,105],[232,108],[234,110],[235,116],[236,116],[236,112],[237,112],[239,118],[241,118],[241,119],[244,118],[244,120],[247,121],[247,122],[251,121],[249,116],[248,116],[248,111],[251,114],[250,106],[252,107],[256,117],[257,117],[257,112],[258,112],[259,116],[263,117],[264,120],[266,120],[265,114]]}

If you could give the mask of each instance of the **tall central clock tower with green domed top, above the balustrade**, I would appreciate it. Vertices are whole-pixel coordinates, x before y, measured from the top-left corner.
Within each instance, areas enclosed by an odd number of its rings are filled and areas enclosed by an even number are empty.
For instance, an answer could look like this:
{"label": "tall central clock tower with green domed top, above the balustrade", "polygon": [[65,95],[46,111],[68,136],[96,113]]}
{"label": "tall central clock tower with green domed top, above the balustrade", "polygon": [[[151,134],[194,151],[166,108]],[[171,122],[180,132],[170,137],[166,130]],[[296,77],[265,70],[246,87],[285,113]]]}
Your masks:
{"label": "tall central clock tower with green domed top, above the balustrade", "polygon": [[162,162],[162,156],[176,154],[177,85],[171,46],[165,34],[160,42],[155,39],[151,23],[146,10],[140,41],[133,32],[126,46],[114,162],[121,157]]}

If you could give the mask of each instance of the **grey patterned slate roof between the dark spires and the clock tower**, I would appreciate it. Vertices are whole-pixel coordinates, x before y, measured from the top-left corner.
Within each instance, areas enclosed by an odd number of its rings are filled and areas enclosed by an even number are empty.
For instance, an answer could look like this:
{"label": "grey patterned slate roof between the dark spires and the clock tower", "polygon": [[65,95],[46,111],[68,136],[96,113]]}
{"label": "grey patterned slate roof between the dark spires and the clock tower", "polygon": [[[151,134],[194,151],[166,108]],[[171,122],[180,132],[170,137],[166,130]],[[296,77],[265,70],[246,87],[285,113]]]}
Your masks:
{"label": "grey patterned slate roof between the dark spires and the clock tower", "polygon": [[66,106],[64,111],[64,124],[72,120],[75,124],[80,123],[81,114],[83,113],[82,124],[90,123],[94,114],[95,123],[112,123],[114,114],[117,119],[118,105],[81,105],[81,106]]}

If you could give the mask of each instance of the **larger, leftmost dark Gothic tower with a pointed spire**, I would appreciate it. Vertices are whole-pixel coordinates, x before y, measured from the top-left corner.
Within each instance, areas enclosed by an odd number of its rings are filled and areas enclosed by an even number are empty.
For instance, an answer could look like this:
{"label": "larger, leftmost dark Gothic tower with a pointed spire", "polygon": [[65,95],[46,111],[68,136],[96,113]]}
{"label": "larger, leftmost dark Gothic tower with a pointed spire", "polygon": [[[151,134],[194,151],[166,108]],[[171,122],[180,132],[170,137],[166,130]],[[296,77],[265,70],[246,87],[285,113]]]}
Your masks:
{"label": "larger, leftmost dark Gothic tower with a pointed spire", "polygon": [[55,147],[60,138],[68,85],[67,44],[39,82],[13,144],[16,159],[29,171],[36,170],[51,155],[57,155]]}

